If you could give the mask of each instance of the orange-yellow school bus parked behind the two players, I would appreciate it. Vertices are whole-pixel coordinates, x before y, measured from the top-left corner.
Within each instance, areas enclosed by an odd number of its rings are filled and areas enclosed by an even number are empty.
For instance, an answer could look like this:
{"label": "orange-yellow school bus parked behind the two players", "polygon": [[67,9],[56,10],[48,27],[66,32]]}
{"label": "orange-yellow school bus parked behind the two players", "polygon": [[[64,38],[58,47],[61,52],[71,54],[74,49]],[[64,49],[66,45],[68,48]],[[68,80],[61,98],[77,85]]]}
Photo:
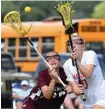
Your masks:
{"label": "orange-yellow school bus parked behind the two players", "polygon": [[[67,52],[68,35],[62,21],[23,22],[26,30],[31,24],[32,28],[27,37],[31,38],[41,53],[51,50]],[[3,24],[1,26],[1,50],[13,54],[16,65],[21,67],[22,72],[35,72],[40,59],[36,51],[12,28]],[[105,20],[73,20],[73,26],[84,38],[87,49],[94,49],[97,53],[105,52]]]}

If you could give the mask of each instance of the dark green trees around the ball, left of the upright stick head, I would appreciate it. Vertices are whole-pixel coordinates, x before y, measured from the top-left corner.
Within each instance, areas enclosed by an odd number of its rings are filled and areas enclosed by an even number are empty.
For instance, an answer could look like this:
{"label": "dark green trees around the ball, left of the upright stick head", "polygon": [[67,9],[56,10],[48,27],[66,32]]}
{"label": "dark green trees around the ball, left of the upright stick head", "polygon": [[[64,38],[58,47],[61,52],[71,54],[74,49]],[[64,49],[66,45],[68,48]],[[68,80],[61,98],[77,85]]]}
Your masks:
{"label": "dark green trees around the ball, left of the upright stick head", "polygon": [[[20,12],[22,21],[42,20],[56,13],[56,11],[54,10],[54,6],[56,5],[55,1],[2,1],[1,4],[2,22],[4,16],[9,11],[13,10]],[[30,13],[26,13],[24,11],[24,8],[26,6],[30,6],[32,8],[32,11]]]}

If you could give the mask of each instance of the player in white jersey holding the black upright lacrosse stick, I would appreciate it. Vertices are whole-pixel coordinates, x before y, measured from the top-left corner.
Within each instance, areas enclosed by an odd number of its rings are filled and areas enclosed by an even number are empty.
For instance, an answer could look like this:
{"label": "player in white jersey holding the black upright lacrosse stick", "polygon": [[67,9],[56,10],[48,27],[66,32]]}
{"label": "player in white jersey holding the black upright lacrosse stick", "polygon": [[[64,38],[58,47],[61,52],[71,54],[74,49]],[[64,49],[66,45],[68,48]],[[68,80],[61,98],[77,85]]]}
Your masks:
{"label": "player in white jersey holding the black upright lacrosse stick", "polygon": [[67,42],[68,49],[71,51],[71,58],[63,65],[67,81],[71,84],[74,92],[77,93],[78,74],[71,60],[76,59],[80,77],[85,86],[86,101],[83,101],[85,109],[105,109],[105,80],[103,79],[97,55],[92,50],[85,51],[84,41],[77,33],[72,34],[71,38],[73,51],[69,41]]}

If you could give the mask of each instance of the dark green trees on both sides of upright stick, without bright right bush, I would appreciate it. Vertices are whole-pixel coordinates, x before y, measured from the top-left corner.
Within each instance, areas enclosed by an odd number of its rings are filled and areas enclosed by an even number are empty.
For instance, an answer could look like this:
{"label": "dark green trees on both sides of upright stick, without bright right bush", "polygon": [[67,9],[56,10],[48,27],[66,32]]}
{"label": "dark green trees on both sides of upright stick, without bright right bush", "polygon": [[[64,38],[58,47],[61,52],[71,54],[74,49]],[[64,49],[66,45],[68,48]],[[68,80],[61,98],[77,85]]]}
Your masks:
{"label": "dark green trees on both sides of upright stick, without bright right bush", "polygon": [[[50,16],[59,16],[57,11],[54,9],[59,1],[2,1],[1,2],[1,21],[9,11],[19,11],[22,21],[37,21],[43,20]],[[75,1],[73,4],[73,19],[91,17],[93,8],[100,1]],[[32,11],[26,13],[24,8],[30,6]]]}

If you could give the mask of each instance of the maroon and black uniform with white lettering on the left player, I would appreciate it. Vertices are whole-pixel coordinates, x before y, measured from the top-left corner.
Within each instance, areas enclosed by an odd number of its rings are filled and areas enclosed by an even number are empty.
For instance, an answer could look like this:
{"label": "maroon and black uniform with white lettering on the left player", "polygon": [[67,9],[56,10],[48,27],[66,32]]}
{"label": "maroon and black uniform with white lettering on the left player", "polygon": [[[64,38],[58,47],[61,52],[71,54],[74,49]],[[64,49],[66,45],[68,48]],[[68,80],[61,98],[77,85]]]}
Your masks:
{"label": "maroon and black uniform with white lettering on the left player", "polygon": [[[63,68],[59,69],[60,78],[67,84],[66,75]],[[44,98],[41,87],[49,85],[51,77],[48,74],[48,70],[45,69],[39,73],[38,86],[33,88],[30,95],[25,99],[23,109],[59,109],[66,96],[66,91],[61,83],[56,83],[53,96],[50,100]]]}

